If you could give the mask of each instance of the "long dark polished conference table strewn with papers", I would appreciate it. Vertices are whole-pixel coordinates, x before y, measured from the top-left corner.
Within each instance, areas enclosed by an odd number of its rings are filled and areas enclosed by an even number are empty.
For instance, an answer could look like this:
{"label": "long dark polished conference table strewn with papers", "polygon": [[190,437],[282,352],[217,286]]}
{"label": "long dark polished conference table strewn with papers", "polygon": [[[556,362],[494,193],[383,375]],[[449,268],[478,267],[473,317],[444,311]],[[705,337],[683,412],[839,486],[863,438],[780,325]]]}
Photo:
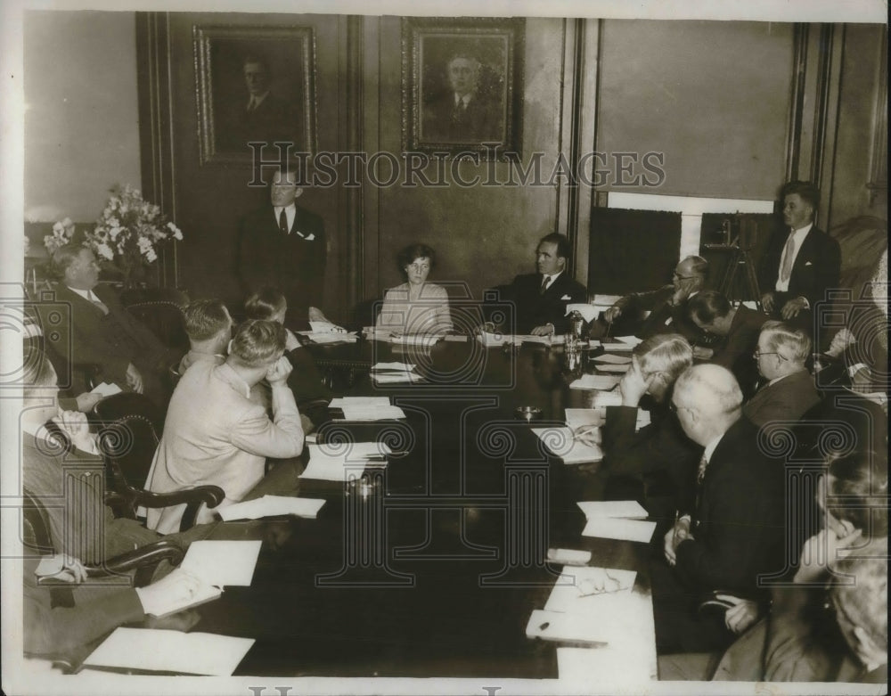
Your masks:
{"label": "long dark polished conference table strewn with papers", "polygon": [[[559,576],[549,548],[635,570],[633,592],[649,600],[650,545],[582,536],[584,473],[530,429],[591,405],[593,392],[569,383],[593,364],[568,372],[562,347],[472,338],[309,349],[321,369],[352,371],[350,396],[389,397],[405,419],[332,411],[320,442],[386,442],[387,465],[358,464],[349,483],[300,479],[300,496],[325,501],[316,519],[225,525],[225,538],[241,528],[262,540],[254,577],[200,606],[192,630],[256,640],[235,676],[556,678],[558,643],[526,635]],[[376,385],[367,369],[393,361],[425,379]],[[541,420],[518,420],[518,405]],[[641,651],[655,658],[653,640]]]}

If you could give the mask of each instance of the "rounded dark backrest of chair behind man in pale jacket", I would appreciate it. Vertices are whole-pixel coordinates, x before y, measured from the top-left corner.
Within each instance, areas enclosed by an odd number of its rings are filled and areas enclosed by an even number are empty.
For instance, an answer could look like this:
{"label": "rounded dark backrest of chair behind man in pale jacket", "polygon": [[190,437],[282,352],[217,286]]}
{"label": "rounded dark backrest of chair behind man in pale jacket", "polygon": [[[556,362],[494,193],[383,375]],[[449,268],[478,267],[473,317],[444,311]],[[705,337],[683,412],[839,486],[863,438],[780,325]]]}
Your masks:
{"label": "rounded dark backrest of chair behind man in pale jacket", "polygon": [[96,405],[108,485],[121,495],[142,489],[163,428],[159,409],[142,394],[122,392]]}

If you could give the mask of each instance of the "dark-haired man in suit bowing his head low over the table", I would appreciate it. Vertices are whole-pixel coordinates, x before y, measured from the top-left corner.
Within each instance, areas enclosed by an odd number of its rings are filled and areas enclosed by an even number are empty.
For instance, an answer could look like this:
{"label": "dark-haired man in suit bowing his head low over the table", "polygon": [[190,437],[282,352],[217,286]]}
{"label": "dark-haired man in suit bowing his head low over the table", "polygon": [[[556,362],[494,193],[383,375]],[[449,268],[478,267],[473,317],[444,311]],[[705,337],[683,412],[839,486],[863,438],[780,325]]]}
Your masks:
{"label": "dark-haired man in suit bowing his head low over the table", "polygon": [[699,292],[687,303],[690,318],[707,333],[720,336],[723,341],[711,348],[693,348],[693,357],[726,367],[740,382],[743,398],[755,393],[758,371],[752,352],[758,344],[761,327],[767,315],[743,305],[731,307],[720,292]]}

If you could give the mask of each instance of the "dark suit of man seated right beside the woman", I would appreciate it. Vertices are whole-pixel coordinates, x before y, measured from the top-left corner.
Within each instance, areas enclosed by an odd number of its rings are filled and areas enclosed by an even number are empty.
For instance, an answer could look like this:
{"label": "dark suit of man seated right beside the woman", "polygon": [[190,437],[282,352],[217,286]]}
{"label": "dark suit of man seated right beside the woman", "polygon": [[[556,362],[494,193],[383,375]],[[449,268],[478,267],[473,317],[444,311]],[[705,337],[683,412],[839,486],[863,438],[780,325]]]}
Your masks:
{"label": "dark suit of man seated right beside the woman", "polygon": [[[502,299],[514,304],[517,333],[529,333],[546,323],[553,324],[555,333],[565,333],[569,328],[566,306],[588,299],[584,285],[570,278],[566,271],[558,275],[542,294],[543,277],[538,273],[518,275],[510,285],[501,288]],[[504,328],[510,330],[510,327]]]}

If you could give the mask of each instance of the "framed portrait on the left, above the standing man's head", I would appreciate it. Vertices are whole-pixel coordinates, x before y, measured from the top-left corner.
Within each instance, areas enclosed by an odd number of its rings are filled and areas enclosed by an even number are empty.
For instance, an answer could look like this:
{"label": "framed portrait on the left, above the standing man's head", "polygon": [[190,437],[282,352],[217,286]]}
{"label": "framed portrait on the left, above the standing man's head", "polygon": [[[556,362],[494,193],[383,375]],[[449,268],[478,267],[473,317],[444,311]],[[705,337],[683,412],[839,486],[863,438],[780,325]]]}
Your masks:
{"label": "framed portrait on the left, above the standing man's head", "polygon": [[248,164],[248,143],[315,152],[313,29],[196,25],[192,38],[202,165]]}

